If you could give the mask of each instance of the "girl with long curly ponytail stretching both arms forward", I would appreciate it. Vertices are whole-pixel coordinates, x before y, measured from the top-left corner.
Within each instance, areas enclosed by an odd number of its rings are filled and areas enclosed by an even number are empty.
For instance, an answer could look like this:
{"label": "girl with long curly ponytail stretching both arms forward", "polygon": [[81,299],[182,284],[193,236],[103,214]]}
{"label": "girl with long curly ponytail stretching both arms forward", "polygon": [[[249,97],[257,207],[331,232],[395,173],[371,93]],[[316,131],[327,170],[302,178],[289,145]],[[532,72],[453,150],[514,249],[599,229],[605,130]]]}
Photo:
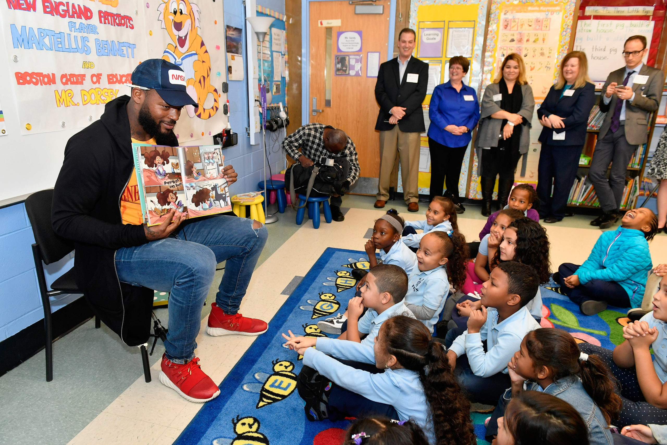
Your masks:
{"label": "girl with long curly ponytail stretching both arms forward", "polygon": [[[303,355],[297,390],[305,400],[308,420],[335,422],[372,415],[412,419],[424,430],[430,445],[476,443],[470,402],[456,383],[442,344],[434,342],[418,320],[389,318],[373,347],[289,334],[283,334],[286,346]],[[374,364],[376,370],[354,368],[330,356]]]}

